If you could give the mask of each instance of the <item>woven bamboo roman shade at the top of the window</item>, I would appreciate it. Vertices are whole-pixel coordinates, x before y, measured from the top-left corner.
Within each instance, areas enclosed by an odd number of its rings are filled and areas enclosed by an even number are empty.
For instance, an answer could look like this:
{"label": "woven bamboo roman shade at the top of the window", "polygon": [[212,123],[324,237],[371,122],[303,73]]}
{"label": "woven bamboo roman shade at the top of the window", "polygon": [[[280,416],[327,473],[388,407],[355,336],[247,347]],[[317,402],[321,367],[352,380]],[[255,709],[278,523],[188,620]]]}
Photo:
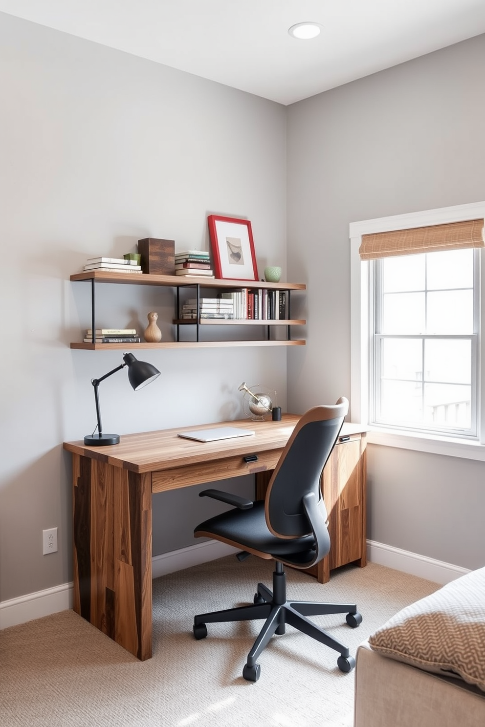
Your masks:
{"label": "woven bamboo roman shade at the top of the window", "polygon": [[363,235],[358,254],[361,260],[420,252],[485,247],[484,220],[449,222],[447,225],[391,230]]}

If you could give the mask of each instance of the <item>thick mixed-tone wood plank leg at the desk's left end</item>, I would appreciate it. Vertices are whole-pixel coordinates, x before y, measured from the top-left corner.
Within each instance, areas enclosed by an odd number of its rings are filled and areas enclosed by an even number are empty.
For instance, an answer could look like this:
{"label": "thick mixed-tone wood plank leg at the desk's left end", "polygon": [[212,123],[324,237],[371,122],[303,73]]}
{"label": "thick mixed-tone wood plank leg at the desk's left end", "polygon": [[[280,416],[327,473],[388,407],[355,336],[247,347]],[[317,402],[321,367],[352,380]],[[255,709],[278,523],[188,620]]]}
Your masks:
{"label": "thick mixed-tone wood plank leg at the desk's left end", "polygon": [[151,657],[151,473],[73,454],[74,610]]}

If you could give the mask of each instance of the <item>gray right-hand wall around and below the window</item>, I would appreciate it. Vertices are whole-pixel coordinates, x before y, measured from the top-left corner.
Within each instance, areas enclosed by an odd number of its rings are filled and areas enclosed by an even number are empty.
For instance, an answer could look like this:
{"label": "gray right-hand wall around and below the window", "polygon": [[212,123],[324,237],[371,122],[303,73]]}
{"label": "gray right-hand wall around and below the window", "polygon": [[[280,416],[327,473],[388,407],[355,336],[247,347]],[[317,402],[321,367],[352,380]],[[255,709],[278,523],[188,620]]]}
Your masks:
{"label": "gray right-hand wall around and below the window", "polygon": [[[288,108],[288,268],[308,283],[290,409],[350,396],[349,222],[485,198],[485,36]],[[369,446],[368,537],[485,563],[485,465]]]}

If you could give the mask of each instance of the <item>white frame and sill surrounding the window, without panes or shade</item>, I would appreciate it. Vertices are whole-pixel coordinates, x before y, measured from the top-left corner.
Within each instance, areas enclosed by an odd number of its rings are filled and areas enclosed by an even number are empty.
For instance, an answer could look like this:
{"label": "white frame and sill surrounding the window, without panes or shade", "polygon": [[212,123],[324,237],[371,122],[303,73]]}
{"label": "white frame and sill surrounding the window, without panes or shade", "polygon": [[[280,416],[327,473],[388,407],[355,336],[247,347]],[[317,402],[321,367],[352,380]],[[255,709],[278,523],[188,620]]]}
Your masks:
{"label": "white frame and sill surrounding the window, without panes or shade", "polygon": [[[369,424],[369,295],[371,284],[369,261],[361,261],[358,249],[362,236],[391,230],[406,230],[426,225],[485,218],[485,201],[452,207],[428,209],[425,212],[397,214],[375,220],[350,222],[350,419]],[[481,252],[480,279],[485,281],[485,254]],[[384,446],[465,457],[485,462],[485,295],[480,292],[479,362],[478,371],[478,440],[466,441],[438,434],[409,433],[404,430],[386,430],[375,427],[367,435],[369,443]]]}

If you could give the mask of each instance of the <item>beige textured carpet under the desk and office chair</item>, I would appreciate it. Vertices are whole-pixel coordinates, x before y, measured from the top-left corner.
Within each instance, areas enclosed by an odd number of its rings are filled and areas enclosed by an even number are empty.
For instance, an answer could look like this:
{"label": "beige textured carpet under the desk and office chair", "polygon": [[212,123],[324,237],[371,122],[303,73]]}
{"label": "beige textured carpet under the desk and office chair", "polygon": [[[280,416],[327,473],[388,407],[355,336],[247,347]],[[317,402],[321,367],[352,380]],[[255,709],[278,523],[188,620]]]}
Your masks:
{"label": "beige textured carpet under the desk and office chair", "polygon": [[[241,672],[262,622],[209,624],[206,639],[193,638],[195,613],[252,601],[272,567],[231,556],[153,581],[153,659],[143,663],[73,611],[1,631],[1,727],[350,727],[354,672],[337,669],[337,652],[287,627],[249,683]],[[290,598],[357,603],[357,629],[342,616],[313,619],[351,654],[437,588],[374,563],[334,571],[325,585],[288,571]]]}

